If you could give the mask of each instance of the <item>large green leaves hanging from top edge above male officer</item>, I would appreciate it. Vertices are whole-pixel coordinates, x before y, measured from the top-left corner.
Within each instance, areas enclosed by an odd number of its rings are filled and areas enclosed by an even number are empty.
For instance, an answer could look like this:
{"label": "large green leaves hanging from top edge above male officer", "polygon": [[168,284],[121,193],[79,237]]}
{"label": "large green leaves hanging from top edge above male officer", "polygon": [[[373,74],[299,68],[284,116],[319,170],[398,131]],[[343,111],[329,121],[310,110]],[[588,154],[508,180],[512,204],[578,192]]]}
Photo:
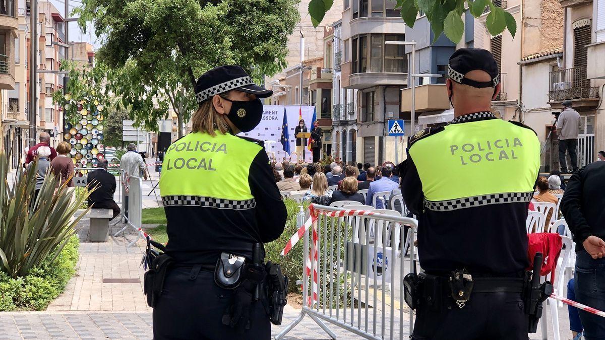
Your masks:
{"label": "large green leaves hanging from top edge above male officer", "polygon": [[[414,27],[416,17],[419,11],[427,15],[431,23],[431,29],[435,34],[435,39],[439,38],[443,32],[451,41],[460,42],[462,33],[464,33],[464,22],[462,15],[470,11],[471,15],[479,18],[486,7],[489,7],[489,14],[485,25],[493,36],[502,33],[505,29],[514,37],[517,32],[517,22],[515,18],[503,10],[503,8],[494,5],[492,0],[390,0],[396,2],[396,9],[401,10],[401,18],[409,27]],[[333,0],[311,0],[309,3],[309,15],[311,22],[317,27],[325,12],[330,10]]]}

